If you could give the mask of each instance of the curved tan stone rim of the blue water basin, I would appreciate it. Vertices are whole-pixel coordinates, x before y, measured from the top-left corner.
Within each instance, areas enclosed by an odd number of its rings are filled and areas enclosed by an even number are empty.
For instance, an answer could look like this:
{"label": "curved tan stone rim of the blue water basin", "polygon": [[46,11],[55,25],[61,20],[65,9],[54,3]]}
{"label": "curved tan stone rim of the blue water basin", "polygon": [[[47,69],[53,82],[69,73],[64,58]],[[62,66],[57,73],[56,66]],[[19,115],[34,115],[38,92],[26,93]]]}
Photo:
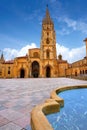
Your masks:
{"label": "curved tan stone rim of the blue water basin", "polygon": [[31,112],[31,128],[32,130],[53,130],[48,122],[46,115],[60,111],[60,107],[64,106],[64,100],[57,94],[71,89],[87,88],[87,85],[63,86],[54,89],[43,104],[37,105]]}

